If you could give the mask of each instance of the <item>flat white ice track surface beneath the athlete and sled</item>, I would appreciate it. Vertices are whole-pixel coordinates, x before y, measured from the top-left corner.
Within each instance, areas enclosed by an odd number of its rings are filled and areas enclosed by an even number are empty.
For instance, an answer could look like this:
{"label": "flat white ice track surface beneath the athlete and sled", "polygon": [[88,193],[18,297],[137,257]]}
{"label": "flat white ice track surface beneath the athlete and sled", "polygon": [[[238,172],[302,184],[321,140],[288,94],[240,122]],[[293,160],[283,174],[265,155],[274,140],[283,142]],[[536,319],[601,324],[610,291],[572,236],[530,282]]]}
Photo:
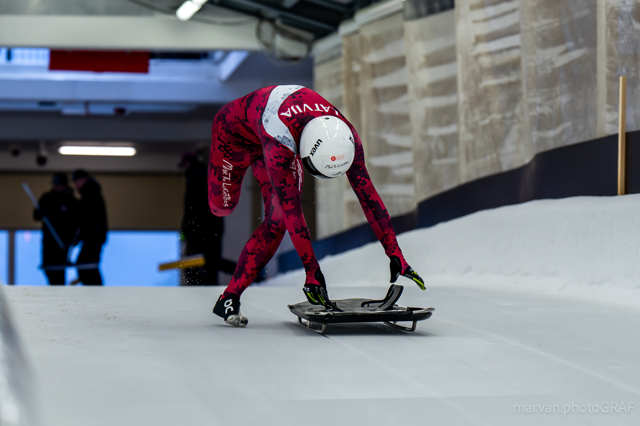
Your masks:
{"label": "flat white ice track surface beneath the athlete and sled", "polygon": [[[44,425],[640,424],[639,307],[407,285],[403,305],[436,308],[414,333],[321,336],[287,309],[298,287],[250,287],[247,328],[211,313],[220,291],[6,288]],[[627,413],[578,412],[611,403]]]}

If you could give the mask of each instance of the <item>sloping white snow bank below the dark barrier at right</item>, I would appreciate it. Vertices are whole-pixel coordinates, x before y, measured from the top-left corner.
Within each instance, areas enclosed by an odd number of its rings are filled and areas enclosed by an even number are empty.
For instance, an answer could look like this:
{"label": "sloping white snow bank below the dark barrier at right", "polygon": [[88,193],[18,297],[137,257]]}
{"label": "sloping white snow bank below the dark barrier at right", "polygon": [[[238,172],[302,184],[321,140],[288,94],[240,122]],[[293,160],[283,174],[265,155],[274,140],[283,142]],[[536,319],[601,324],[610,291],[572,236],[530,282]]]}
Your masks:
{"label": "sloping white snow bank below the dark barrier at right", "polygon": [[[640,305],[640,195],[532,201],[406,232],[398,240],[428,285]],[[320,264],[330,287],[388,286],[388,259],[377,242]],[[266,284],[303,281],[303,271],[296,270]]]}

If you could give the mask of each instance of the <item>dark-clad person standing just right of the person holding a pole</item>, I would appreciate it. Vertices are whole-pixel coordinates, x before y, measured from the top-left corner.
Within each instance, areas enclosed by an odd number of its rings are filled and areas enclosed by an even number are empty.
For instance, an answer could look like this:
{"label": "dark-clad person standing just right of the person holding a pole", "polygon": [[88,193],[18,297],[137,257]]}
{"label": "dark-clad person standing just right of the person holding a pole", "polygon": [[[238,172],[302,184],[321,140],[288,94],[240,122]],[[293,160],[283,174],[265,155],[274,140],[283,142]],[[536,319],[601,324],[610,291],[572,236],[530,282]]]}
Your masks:
{"label": "dark-clad person standing just right of the person holding a pole", "polygon": [[83,169],[71,175],[82,196],[79,204],[79,241],[83,242],[76,264],[78,279],[84,285],[102,285],[98,269],[102,245],[107,240],[107,212],[99,183]]}

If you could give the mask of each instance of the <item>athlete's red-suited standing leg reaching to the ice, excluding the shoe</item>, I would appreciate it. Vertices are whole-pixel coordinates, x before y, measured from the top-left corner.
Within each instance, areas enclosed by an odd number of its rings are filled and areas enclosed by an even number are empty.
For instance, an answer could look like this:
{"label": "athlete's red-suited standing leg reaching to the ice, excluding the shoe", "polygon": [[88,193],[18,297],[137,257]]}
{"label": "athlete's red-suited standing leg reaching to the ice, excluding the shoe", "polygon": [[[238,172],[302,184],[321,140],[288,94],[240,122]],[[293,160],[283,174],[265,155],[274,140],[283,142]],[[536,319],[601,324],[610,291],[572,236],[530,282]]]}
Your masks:
{"label": "athlete's red-suited standing leg reaching to the ice, excluding the shoe", "polygon": [[244,245],[234,277],[229,282],[223,296],[235,293],[238,296],[248,287],[255,277],[260,273],[262,268],[271,260],[273,254],[278,250],[280,241],[287,231],[282,209],[277,202],[273,188],[269,182],[264,158],[259,158],[253,162],[253,176],[260,183],[260,191],[262,192],[262,200],[264,201],[264,221],[253,235]]}

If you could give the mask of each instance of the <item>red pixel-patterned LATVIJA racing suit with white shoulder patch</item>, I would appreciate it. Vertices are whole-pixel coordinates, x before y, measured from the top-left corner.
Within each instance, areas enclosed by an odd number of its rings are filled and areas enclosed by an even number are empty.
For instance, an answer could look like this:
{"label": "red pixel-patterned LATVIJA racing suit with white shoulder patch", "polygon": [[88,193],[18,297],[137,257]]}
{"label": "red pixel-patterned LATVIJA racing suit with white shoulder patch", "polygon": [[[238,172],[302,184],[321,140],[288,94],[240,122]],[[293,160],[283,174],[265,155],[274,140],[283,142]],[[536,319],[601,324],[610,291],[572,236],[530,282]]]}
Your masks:
{"label": "red pixel-patterned LATVIJA racing suit with white shoulder patch", "polygon": [[211,211],[216,216],[227,216],[236,208],[249,166],[260,183],[264,200],[264,222],[244,245],[224,296],[242,294],[273,257],[287,230],[305,267],[305,283],[319,284],[314,277],[319,265],[300,202],[303,170],[298,146],[308,121],[327,115],[339,117],[351,129],[355,156],[346,173],[349,183],[387,256],[399,257],[403,272],[408,268],[387,209],[365,168],[362,142],[353,126],[339,110],[307,87],[270,86],[227,103],[213,123],[209,157]]}

